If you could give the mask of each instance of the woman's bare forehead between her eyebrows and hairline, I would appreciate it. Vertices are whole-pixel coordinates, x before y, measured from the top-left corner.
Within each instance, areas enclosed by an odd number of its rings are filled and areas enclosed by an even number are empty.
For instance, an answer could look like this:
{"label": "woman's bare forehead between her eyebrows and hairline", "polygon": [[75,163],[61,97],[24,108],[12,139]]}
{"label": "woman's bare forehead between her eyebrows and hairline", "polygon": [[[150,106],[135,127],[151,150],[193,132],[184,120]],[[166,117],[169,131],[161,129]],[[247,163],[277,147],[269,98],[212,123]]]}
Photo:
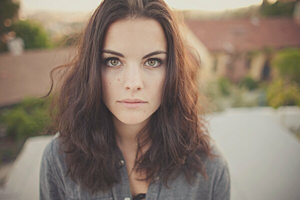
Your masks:
{"label": "woman's bare forehead between her eyebrows and hairline", "polygon": [[166,51],[166,38],[160,23],[154,19],[122,19],[108,26],[102,48],[119,51],[125,56]]}

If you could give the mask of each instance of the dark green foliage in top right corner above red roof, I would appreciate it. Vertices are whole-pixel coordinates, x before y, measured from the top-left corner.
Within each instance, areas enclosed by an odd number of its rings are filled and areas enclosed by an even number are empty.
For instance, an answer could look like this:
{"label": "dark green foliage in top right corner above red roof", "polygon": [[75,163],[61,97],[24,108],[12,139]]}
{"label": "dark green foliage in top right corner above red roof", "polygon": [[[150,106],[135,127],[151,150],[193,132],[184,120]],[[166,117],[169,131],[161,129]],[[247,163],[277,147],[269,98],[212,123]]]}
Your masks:
{"label": "dark green foliage in top right corner above red roof", "polygon": [[260,7],[260,14],[263,16],[291,16],[296,1],[284,2],[277,0],[275,3],[269,3],[263,0]]}

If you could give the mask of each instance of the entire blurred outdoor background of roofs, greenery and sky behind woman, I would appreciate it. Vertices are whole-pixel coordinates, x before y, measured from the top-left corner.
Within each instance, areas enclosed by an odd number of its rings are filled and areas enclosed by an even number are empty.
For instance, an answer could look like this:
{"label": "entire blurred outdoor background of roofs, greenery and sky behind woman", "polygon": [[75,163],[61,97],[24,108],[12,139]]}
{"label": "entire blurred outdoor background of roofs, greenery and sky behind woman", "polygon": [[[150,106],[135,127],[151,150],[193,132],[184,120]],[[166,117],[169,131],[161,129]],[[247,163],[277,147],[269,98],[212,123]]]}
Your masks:
{"label": "entire blurred outdoor background of roofs, greenery and sky behind woman", "polygon": [[[232,171],[231,199],[300,199],[300,1],[165,1],[201,57],[199,89],[214,104],[210,131]],[[38,97],[98,4],[0,1],[0,199],[37,197],[49,141],[38,135],[51,124],[51,95]],[[24,198],[29,169],[35,193]]]}

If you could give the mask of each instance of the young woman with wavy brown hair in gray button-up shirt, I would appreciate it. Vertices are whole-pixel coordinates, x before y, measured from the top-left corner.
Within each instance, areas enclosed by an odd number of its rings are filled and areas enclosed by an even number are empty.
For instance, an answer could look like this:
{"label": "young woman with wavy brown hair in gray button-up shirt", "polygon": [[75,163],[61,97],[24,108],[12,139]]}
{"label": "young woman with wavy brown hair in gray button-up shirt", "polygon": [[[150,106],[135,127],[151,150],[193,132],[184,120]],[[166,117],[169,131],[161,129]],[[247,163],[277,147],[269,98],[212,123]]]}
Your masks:
{"label": "young woman with wavy brown hair in gray button-up shirt", "polygon": [[100,3],[53,101],[40,199],[229,199],[179,24],[163,0]]}

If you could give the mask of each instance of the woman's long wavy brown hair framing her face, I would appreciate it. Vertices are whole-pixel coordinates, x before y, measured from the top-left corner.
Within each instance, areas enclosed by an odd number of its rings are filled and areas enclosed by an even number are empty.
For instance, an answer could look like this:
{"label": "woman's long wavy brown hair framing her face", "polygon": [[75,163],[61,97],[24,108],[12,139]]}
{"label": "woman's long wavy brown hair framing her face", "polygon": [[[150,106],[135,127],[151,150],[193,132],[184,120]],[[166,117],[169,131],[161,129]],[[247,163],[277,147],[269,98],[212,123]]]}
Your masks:
{"label": "woman's long wavy brown hair framing her face", "polygon": [[101,94],[103,38],[113,21],[134,17],[157,20],[168,51],[161,105],[146,126],[146,140],[138,140],[137,152],[145,143],[151,143],[135,157],[135,170],[146,174],[140,180],[151,181],[159,176],[167,186],[168,180],[184,173],[192,183],[198,172],[207,179],[203,160],[213,157],[204,119],[208,101],[197,85],[200,59],[182,36],[182,18],[163,0],[103,0],[88,20],[74,58],[51,71],[47,93],[53,88],[53,72],[64,69],[52,101],[54,132],[59,131],[67,174],[92,193],[110,188],[120,175],[112,117]]}

